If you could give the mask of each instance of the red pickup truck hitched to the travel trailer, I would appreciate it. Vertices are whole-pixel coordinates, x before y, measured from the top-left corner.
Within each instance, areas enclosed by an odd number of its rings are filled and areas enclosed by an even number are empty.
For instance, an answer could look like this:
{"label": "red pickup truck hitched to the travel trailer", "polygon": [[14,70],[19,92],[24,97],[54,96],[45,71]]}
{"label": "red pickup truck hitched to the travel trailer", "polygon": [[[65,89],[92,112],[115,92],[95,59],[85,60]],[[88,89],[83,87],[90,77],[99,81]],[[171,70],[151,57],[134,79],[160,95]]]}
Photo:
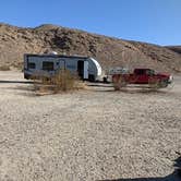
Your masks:
{"label": "red pickup truck hitched to the travel trailer", "polygon": [[113,74],[112,82],[118,89],[126,84],[148,84],[162,88],[171,84],[172,76],[167,73],[156,73],[152,69],[134,69],[133,73]]}

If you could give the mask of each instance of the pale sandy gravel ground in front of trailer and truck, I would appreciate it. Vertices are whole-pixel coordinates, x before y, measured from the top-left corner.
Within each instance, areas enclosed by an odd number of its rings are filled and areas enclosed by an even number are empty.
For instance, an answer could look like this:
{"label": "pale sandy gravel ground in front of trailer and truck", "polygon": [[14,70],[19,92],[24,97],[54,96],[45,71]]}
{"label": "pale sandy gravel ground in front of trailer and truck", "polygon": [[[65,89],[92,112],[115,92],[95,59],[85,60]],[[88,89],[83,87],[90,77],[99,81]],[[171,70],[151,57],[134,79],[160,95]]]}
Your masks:
{"label": "pale sandy gravel ground in front of trailer and truck", "polygon": [[0,72],[0,181],[179,181],[181,77],[158,93],[34,96]]}

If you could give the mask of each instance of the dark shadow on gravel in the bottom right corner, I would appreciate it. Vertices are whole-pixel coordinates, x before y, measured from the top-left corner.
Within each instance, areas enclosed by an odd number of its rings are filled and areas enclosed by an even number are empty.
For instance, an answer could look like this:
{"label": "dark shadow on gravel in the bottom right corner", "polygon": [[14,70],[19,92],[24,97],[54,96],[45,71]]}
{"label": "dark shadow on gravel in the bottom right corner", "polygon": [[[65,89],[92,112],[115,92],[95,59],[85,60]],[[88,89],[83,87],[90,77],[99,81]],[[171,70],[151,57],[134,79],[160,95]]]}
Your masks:
{"label": "dark shadow on gravel in the bottom right corner", "polygon": [[155,178],[134,178],[134,179],[113,179],[113,180],[99,180],[99,181],[181,181],[181,157],[174,160],[174,171],[166,177]]}

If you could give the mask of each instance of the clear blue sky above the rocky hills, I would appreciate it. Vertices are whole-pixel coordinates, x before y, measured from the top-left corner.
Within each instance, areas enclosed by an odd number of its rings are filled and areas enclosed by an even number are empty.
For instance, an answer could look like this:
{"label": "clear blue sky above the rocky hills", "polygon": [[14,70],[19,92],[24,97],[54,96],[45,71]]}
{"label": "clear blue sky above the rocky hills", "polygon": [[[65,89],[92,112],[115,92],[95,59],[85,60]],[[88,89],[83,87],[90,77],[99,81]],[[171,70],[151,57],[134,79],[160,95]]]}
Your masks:
{"label": "clear blue sky above the rocky hills", "polygon": [[158,45],[181,45],[181,0],[1,0],[0,22],[56,24]]}

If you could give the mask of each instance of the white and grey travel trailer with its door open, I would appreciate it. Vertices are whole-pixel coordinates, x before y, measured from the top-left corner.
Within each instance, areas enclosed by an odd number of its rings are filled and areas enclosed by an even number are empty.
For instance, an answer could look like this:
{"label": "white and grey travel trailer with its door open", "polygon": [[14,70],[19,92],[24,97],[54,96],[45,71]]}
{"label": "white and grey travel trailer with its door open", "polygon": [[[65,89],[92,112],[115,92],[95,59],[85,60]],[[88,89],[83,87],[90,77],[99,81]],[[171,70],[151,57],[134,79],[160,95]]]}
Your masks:
{"label": "white and grey travel trailer with its door open", "polygon": [[52,76],[60,69],[76,73],[81,79],[99,81],[101,67],[97,60],[82,56],[51,55],[24,55],[24,77],[31,79],[34,75]]}

